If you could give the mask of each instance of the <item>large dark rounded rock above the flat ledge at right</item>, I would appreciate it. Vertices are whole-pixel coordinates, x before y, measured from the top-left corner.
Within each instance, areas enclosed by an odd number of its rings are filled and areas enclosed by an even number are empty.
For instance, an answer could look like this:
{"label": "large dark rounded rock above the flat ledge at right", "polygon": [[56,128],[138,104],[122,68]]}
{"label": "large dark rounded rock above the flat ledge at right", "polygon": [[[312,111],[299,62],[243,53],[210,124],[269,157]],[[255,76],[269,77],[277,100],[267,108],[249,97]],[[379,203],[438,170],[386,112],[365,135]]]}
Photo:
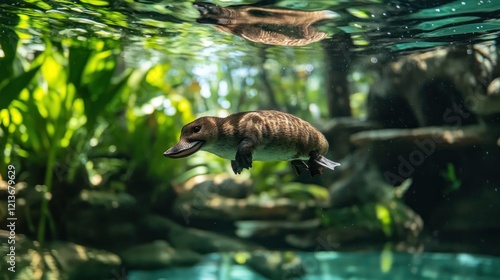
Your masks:
{"label": "large dark rounded rock above the flat ledge at right", "polygon": [[481,62],[468,47],[415,53],[387,63],[370,87],[368,119],[394,128],[449,126],[451,119],[444,116],[461,106],[459,113],[469,114],[462,123],[474,124],[477,120],[464,109],[464,100],[477,93],[480,81],[488,80],[487,72],[479,77],[479,68]]}

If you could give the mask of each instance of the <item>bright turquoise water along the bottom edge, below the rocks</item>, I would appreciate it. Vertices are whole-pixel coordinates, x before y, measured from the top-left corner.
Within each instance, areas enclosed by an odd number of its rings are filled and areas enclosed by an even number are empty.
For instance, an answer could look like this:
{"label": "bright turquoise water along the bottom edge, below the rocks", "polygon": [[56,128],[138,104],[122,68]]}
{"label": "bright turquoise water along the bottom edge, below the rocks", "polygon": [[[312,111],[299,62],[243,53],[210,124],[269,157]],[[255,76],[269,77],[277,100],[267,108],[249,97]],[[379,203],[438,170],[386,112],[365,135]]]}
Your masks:
{"label": "bright turquoise water along the bottom edge, below the rocks", "polygon": [[[497,279],[499,258],[469,254],[302,253],[306,274],[284,279]],[[243,265],[229,265],[224,256],[208,255],[191,268],[133,272],[128,279],[266,279]]]}

